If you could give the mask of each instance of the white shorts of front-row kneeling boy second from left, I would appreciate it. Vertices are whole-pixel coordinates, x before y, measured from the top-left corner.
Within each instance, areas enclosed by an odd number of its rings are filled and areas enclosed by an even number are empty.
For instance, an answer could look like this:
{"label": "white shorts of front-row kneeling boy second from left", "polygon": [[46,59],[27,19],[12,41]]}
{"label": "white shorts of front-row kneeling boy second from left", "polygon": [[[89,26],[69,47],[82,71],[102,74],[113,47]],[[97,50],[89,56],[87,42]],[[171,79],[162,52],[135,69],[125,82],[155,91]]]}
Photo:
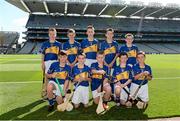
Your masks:
{"label": "white shorts of front-row kneeling boy second from left", "polygon": [[74,95],[72,97],[72,102],[74,104],[88,104],[89,103],[89,87],[78,86],[74,91]]}

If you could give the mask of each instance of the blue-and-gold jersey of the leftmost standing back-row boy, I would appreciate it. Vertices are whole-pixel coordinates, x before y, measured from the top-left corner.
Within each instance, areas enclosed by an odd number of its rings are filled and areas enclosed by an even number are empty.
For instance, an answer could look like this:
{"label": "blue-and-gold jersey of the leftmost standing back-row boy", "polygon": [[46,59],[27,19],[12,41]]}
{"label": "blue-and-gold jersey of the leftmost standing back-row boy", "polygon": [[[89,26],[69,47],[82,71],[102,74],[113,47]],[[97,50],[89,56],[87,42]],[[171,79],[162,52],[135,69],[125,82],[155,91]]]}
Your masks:
{"label": "blue-and-gold jersey of the leftmost standing back-row boy", "polygon": [[58,53],[61,50],[61,43],[46,41],[42,44],[40,52],[44,55],[44,61],[58,60]]}

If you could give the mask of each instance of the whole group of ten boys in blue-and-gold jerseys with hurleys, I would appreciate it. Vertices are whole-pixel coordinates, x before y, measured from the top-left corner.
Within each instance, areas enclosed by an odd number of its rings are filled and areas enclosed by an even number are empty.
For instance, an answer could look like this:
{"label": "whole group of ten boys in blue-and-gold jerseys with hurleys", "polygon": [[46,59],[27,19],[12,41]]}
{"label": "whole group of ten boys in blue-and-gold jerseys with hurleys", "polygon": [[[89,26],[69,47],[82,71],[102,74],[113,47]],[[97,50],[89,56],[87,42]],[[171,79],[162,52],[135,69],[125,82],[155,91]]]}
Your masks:
{"label": "whole group of ten boys in blue-and-gold jerseys with hurleys", "polygon": [[98,41],[92,25],[87,26],[87,38],[81,42],[76,41],[74,29],[67,31],[67,42],[56,40],[55,28],[49,28],[48,34],[49,40],[40,50],[41,95],[48,101],[48,111],[53,111],[56,103],[58,111],[71,111],[81,104],[87,108],[91,97],[97,114],[107,111],[109,102],[147,108],[152,72],[143,50],[133,44],[133,34],[125,35],[124,45],[113,39],[112,28],[106,30],[104,41]]}

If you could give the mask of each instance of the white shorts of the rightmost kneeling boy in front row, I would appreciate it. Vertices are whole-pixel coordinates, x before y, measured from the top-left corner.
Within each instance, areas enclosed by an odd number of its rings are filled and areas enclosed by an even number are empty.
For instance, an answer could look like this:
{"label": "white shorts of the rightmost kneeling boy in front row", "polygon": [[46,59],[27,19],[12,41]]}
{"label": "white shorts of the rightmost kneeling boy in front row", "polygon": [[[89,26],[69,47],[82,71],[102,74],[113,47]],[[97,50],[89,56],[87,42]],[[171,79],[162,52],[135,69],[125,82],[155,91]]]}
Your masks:
{"label": "white shorts of the rightmost kneeling boy in front row", "polygon": [[[138,88],[138,86],[139,86],[138,84],[131,83],[131,87],[130,87],[130,94],[131,95],[134,95],[134,93],[135,93],[136,89]],[[145,85],[141,86],[141,88],[139,89],[136,97],[139,97],[144,102],[149,101],[148,84],[145,84]]]}

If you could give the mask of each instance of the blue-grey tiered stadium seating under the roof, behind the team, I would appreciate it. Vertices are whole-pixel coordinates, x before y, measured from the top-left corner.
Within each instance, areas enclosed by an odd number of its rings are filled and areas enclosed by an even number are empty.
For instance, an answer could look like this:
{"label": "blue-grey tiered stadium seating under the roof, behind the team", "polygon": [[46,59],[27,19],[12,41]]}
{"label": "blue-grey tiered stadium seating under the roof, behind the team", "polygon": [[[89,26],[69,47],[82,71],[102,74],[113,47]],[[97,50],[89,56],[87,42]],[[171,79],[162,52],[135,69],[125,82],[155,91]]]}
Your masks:
{"label": "blue-grey tiered stadium seating under the roof, behind the team", "polygon": [[[95,38],[105,40],[106,29],[115,30],[114,39],[124,43],[124,35],[133,33],[135,44],[146,53],[180,53],[180,21],[172,20],[143,20],[139,28],[139,19],[129,18],[102,18],[102,17],[77,17],[77,16],[50,16],[30,15],[26,28],[24,47],[19,53],[39,53],[42,42],[48,40],[48,28],[57,28],[57,40],[65,42],[68,28],[76,30],[76,40],[81,41],[86,37],[87,25],[93,24],[96,30]],[[136,36],[138,34],[140,36]]]}

